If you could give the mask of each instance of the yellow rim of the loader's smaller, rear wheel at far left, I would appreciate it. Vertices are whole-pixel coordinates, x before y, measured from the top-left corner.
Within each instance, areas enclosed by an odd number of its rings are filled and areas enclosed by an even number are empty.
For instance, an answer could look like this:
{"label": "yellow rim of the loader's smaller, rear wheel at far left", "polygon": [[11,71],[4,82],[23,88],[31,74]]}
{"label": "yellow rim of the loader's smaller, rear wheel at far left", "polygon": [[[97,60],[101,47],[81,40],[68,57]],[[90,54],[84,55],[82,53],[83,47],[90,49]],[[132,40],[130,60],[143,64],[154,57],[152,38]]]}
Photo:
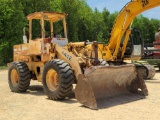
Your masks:
{"label": "yellow rim of the loader's smaller, rear wheel at far left", "polygon": [[14,86],[16,86],[17,84],[18,84],[18,78],[19,78],[19,76],[18,76],[18,72],[17,72],[17,70],[16,69],[13,69],[12,71],[11,71],[11,82],[12,82],[12,84],[14,85]]}

